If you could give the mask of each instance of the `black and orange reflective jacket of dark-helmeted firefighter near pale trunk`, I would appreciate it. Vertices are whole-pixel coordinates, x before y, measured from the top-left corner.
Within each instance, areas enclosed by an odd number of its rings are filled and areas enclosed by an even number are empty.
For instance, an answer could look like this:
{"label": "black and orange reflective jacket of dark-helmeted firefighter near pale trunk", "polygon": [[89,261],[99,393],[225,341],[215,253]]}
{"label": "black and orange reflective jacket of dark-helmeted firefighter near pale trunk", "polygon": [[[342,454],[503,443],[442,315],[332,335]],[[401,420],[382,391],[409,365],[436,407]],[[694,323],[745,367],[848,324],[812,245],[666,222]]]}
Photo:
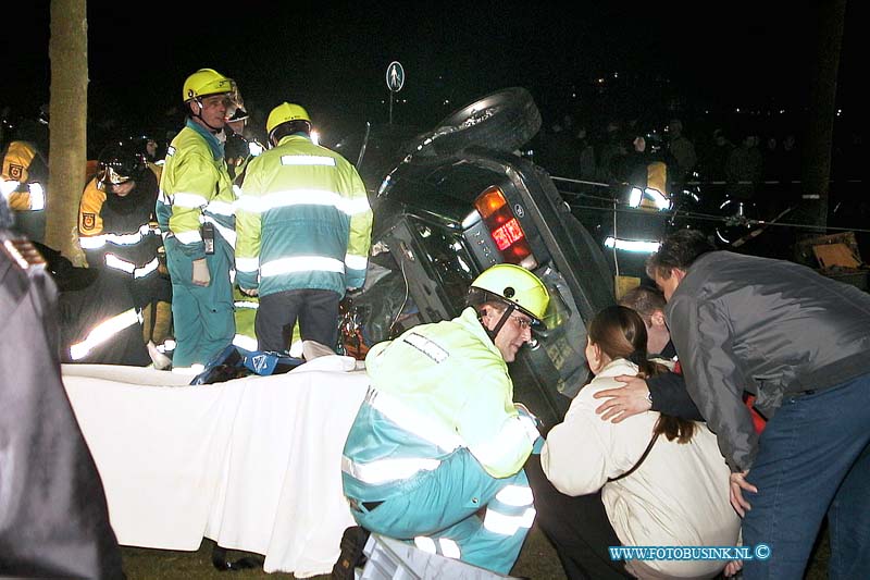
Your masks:
{"label": "black and orange reflective jacket of dark-helmeted firefighter near pale trunk", "polygon": [[125,197],[108,195],[92,178],[78,207],[78,243],[90,268],[123,272],[133,281],[158,275],[163,245],[153,220],[157,177],[144,173]]}

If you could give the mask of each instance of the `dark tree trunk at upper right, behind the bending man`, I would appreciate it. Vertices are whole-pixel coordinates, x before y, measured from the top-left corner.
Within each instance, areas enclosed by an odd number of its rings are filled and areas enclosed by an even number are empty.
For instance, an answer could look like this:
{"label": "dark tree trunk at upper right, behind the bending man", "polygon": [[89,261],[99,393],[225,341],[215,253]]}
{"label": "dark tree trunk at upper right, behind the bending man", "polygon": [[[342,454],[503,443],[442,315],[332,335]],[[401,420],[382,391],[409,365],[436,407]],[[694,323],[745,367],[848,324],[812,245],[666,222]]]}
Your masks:
{"label": "dark tree trunk at upper right, behind the bending man", "polygon": [[803,153],[803,197],[811,224],[828,224],[831,151],[836,113],[836,78],[843,44],[846,0],[817,3],[818,37],[812,67],[807,137]]}

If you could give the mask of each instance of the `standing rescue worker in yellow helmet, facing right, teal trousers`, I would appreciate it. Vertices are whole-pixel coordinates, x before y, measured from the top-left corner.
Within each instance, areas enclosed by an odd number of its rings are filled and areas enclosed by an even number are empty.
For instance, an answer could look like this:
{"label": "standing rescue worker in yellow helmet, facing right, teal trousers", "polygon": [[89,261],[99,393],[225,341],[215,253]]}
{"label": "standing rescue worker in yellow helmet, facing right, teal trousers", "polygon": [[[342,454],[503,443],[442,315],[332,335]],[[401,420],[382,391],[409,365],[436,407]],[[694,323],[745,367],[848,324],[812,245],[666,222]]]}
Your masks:
{"label": "standing rescue worker in yellow helmet, facing right, teal trousers", "polygon": [[187,77],[182,89],[187,120],[163,165],[157,217],[172,276],[175,372],[200,372],[235,334],[229,281],[235,195],[219,138],[235,92],[235,83],[212,69]]}

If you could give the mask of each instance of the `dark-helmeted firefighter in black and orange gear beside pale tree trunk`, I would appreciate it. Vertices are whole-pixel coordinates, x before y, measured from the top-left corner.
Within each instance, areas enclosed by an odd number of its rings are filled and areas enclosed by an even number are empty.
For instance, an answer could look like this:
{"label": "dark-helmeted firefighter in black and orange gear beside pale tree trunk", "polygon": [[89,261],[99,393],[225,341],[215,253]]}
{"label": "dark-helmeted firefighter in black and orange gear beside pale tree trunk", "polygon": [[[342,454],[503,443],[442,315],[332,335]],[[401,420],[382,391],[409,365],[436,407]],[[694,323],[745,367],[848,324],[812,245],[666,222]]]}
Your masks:
{"label": "dark-helmeted firefighter in black and orange gear beside pale tree trunk", "polygon": [[[78,209],[78,242],[88,267],[129,289],[151,353],[169,337],[172,322],[172,285],[159,268],[157,196],[157,176],[134,144],[111,145],[100,153]],[[152,358],[159,367],[169,362]]]}

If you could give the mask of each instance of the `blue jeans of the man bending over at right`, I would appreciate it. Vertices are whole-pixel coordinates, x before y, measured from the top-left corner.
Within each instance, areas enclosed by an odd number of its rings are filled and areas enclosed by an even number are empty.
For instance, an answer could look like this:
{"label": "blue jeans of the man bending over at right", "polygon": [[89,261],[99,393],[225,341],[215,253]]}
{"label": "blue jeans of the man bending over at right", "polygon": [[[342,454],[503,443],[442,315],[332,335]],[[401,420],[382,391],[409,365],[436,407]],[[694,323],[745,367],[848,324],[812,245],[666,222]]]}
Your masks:
{"label": "blue jeans of the man bending over at right", "polygon": [[829,578],[870,570],[870,374],[820,393],[788,397],[761,433],[747,480],[753,508],[743,542],[768,544],[766,560],[747,560],[743,576],[800,579],[828,515]]}

